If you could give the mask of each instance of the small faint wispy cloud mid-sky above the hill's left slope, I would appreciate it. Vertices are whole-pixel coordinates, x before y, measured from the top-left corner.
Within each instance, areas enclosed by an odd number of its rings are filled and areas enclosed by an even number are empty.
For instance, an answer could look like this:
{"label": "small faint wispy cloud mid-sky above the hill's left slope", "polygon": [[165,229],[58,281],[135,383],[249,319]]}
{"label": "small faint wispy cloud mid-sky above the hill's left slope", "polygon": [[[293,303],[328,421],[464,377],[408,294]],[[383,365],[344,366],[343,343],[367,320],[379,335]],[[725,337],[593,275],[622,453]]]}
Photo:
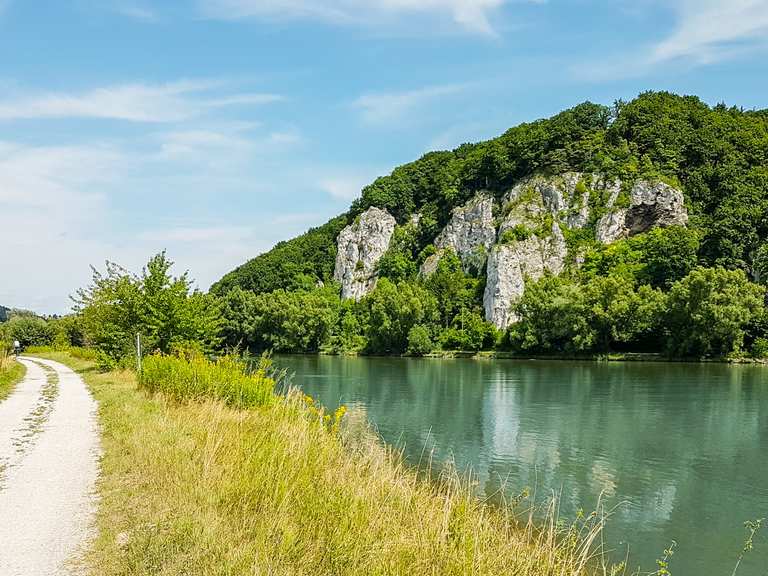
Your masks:
{"label": "small faint wispy cloud mid-sky above the hill's left slope", "polygon": [[372,92],[357,98],[352,106],[369,124],[390,124],[403,120],[439,98],[454,96],[466,88],[466,84],[448,84],[405,92]]}

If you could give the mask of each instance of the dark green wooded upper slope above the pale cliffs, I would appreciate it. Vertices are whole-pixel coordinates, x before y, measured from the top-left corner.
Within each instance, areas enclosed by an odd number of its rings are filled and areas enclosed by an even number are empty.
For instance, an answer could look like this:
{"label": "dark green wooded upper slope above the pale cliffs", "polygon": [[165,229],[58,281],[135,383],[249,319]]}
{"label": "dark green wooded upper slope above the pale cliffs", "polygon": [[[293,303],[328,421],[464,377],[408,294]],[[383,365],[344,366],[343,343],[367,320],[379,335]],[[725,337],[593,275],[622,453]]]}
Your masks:
{"label": "dark green wooded upper slope above the pale cliffs", "polygon": [[367,186],[348,214],[278,244],[227,274],[214,291],[291,288],[298,274],[330,280],[336,236],[370,206],[386,208],[400,224],[421,214],[417,256],[451,210],[477,191],[500,197],[527,175],[570,170],[679,182],[702,231],[706,263],[749,270],[750,255],[768,234],[768,111],[712,108],[695,97],[651,92],[614,108],[581,104],[487,142],[426,154]]}

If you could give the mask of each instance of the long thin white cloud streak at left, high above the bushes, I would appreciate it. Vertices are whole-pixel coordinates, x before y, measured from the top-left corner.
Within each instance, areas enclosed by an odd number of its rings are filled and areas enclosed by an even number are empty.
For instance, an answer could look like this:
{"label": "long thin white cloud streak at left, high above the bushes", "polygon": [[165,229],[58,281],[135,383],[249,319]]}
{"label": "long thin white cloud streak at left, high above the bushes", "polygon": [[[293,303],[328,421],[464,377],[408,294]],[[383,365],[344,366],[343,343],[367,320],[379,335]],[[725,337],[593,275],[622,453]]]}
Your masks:
{"label": "long thin white cloud streak at left, high above the bushes", "polygon": [[0,120],[31,118],[102,118],[130,122],[180,122],[209,108],[265,104],[280,100],[276,94],[213,96],[216,81],[181,81],[169,84],[122,84],[82,93],[24,95],[0,100]]}

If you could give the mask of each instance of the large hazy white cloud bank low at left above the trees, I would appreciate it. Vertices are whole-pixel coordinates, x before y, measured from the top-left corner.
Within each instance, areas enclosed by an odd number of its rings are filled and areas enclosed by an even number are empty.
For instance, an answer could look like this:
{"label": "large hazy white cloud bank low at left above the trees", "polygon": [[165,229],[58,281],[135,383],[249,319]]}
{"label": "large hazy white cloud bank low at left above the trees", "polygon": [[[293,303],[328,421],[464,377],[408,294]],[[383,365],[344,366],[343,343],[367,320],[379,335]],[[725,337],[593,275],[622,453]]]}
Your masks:
{"label": "large hazy white cloud bank low at left above the trees", "polygon": [[[109,259],[140,270],[162,249],[207,289],[328,218],[289,205],[287,191],[317,187],[317,173],[273,165],[297,141],[292,130],[237,122],[109,145],[0,141],[0,246],[11,271],[0,271],[0,303],[65,312],[89,265]],[[282,203],[270,200],[278,195]]]}

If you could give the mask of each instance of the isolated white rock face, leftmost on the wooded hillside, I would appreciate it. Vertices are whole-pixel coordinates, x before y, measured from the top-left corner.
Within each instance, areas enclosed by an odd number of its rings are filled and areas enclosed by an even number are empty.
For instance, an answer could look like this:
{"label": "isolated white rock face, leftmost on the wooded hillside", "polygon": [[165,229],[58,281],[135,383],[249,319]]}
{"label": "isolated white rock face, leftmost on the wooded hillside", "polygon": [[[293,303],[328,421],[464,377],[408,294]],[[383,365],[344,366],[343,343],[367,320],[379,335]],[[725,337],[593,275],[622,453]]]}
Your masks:
{"label": "isolated white rock face, leftmost on the wooded hillside", "polygon": [[372,206],[339,234],[333,277],[341,297],[359,300],[376,286],[376,264],[389,248],[395,219]]}

